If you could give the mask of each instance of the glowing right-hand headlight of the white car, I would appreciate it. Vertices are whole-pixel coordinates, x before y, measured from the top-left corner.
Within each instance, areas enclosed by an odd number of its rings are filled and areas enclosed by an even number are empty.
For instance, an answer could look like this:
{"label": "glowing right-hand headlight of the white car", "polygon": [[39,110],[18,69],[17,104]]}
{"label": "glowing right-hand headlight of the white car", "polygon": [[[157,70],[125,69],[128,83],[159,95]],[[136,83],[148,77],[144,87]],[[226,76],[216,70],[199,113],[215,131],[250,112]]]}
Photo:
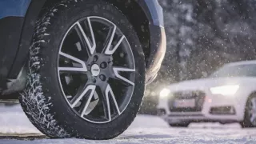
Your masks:
{"label": "glowing right-hand headlight of the white car", "polygon": [[239,89],[239,85],[218,86],[210,88],[212,94],[233,95]]}

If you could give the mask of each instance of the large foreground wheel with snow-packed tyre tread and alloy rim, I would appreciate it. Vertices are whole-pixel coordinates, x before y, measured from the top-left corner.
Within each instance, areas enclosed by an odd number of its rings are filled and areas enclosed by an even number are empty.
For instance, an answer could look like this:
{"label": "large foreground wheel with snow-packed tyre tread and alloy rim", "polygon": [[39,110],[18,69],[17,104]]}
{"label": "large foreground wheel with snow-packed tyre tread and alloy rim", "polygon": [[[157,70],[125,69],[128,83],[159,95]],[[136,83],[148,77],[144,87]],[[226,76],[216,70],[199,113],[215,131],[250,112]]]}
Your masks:
{"label": "large foreground wheel with snow-packed tyre tread and alloy rim", "polygon": [[122,134],[145,90],[144,54],[133,26],[102,0],[63,1],[43,13],[20,97],[26,115],[50,138]]}

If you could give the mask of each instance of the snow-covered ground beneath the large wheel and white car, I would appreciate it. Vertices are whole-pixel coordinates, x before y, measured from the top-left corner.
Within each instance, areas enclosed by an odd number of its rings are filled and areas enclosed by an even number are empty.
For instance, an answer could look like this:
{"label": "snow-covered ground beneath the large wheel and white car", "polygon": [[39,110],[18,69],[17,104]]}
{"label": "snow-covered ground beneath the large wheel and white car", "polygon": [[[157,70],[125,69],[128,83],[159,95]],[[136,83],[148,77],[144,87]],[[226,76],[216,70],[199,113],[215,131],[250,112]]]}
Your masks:
{"label": "snow-covered ground beneath the large wheel and white car", "polygon": [[[20,106],[0,106],[0,138],[2,135],[39,134],[30,124]],[[154,144],[255,144],[256,129],[241,129],[238,124],[218,123],[191,124],[189,128],[170,128],[162,119],[139,115],[124,134],[109,141],[88,141],[82,139],[0,139],[0,144],[112,144],[112,143],[154,143]]]}

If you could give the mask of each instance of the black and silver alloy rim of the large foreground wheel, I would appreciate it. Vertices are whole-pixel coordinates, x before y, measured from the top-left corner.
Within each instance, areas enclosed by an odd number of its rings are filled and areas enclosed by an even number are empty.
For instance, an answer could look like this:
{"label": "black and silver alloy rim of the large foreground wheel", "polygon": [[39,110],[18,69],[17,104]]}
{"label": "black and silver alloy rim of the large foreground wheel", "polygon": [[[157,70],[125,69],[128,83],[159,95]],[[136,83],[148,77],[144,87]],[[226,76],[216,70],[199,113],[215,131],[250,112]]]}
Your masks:
{"label": "black and silver alloy rim of the large foreground wheel", "polygon": [[60,45],[58,78],[66,102],[80,118],[93,123],[118,118],[130,102],[135,81],[126,36],[106,18],[78,20]]}

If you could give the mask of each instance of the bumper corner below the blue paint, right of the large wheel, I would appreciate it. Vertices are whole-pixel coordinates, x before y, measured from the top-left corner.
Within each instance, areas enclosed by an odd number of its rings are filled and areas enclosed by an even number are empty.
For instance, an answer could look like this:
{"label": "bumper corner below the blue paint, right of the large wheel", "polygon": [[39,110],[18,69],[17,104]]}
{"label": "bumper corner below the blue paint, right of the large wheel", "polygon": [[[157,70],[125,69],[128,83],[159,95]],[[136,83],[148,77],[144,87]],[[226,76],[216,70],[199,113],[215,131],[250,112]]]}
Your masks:
{"label": "bumper corner below the blue paint, right of the large wheel", "polygon": [[154,81],[166,54],[166,31],[162,26],[150,26],[150,56],[146,59],[146,83]]}

